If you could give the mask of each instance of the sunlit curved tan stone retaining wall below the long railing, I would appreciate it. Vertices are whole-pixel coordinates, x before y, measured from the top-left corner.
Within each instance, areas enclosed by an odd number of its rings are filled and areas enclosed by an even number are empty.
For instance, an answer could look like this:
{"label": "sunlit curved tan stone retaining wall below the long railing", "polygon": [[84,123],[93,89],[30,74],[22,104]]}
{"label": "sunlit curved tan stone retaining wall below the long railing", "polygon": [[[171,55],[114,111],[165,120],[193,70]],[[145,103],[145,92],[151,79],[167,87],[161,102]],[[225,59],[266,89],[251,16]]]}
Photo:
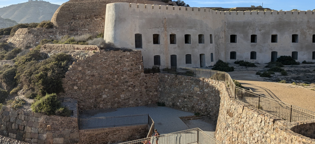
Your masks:
{"label": "sunlit curved tan stone retaining wall below the long railing", "polygon": [[230,90],[224,87],[224,85],[217,87],[222,90],[220,112],[215,131],[217,140],[225,144],[315,144],[315,139],[302,136],[291,130],[298,123],[288,123],[237,102],[230,95]]}

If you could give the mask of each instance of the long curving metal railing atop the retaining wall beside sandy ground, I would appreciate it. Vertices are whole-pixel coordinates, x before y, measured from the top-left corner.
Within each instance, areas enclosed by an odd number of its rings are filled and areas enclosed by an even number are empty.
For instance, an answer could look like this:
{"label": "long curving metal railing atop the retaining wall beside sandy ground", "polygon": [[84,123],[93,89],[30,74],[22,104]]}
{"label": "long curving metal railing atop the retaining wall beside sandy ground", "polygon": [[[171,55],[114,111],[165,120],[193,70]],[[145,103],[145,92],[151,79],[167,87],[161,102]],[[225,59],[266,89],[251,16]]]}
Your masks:
{"label": "long curving metal railing atop the retaining wall beside sandy ground", "polygon": [[231,76],[226,72],[210,69],[173,67],[165,65],[145,66],[144,72],[186,75],[224,81],[231,89],[235,100],[246,103],[247,105],[250,105],[258,110],[272,114],[288,122],[315,119],[315,113],[312,111],[235,86]]}

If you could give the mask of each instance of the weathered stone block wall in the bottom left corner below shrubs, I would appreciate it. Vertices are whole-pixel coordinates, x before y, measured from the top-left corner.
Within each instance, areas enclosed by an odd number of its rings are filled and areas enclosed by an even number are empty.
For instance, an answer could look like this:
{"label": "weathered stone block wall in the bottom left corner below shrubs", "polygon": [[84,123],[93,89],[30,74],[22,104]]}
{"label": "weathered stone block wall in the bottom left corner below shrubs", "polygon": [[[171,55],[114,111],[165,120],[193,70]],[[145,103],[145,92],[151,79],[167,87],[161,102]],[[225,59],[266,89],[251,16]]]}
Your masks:
{"label": "weathered stone block wall in the bottom left corner below shrubs", "polygon": [[[75,114],[75,113],[74,113]],[[0,135],[38,144],[79,142],[77,115],[43,115],[25,109],[3,106],[0,112]]]}

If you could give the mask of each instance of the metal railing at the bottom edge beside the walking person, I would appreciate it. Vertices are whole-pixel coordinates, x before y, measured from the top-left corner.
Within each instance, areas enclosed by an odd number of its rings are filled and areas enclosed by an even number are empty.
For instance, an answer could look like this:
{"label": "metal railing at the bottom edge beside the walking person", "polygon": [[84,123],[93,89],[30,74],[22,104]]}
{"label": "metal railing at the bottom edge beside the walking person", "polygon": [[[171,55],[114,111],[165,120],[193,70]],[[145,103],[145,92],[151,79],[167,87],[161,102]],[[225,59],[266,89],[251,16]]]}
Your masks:
{"label": "metal railing at the bottom edge beside the walking person", "polygon": [[223,144],[222,142],[216,140],[215,138],[209,136],[199,128],[183,130],[174,133],[169,133],[165,135],[160,135],[158,137],[147,137],[140,140],[128,141],[121,144],[155,144],[155,140],[158,138],[159,144],[191,144],[191,143],[201,143],[201,144]]}

